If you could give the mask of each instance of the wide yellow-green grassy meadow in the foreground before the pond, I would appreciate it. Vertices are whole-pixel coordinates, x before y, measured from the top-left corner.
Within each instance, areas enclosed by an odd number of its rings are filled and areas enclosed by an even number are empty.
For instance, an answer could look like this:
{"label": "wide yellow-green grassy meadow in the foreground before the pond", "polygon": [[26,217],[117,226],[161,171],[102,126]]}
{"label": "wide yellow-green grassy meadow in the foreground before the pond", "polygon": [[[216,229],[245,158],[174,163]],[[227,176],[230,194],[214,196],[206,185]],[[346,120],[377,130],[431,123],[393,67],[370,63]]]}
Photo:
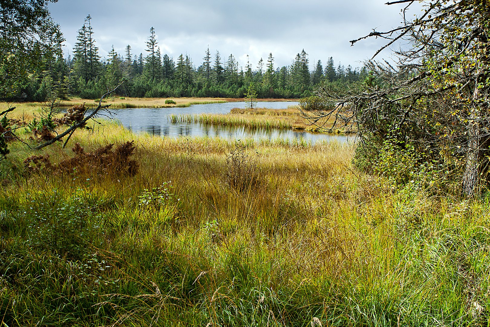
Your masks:
{"label": "wide yellow-green grassy meadow in the foreground before the pond", "polygon": [[60,165],[74,155],[62,144],[35,152],[53,166],[29,172],[32,151],[11,144],[0,322],[488,326],[489,198],[397,190],[356,172],[338,143],[162,139],[108,124],[70,145],[130,140],[132,176]]}

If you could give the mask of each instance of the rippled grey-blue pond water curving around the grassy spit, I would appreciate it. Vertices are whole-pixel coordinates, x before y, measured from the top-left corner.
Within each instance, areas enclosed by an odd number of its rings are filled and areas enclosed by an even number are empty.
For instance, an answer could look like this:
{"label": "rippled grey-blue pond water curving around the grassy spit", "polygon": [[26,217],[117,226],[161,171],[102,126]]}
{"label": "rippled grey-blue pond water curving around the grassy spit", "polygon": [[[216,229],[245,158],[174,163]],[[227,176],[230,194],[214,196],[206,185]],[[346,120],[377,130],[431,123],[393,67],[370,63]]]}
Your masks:
{"label": "rippled grey-blue pond water curving around the grassy spit", "polygon": [[[288,106],[295,106],[298,102],[258,102],[258,108],[285,109]],[[214,126],[199,123],[172,123],[170,115],[198,115],[202,113],[228,114],[233,108],[245,108],[245,102],[225,102],[194,104],[187,108],[130,108],[112,109],[112,118],[117,119],[121,124],[135,133],[147,132],[162,137],[180,136],[208,136],[226,139],[287,139],[289,141],[300,141],[316,143],[320,140],[337,140],[341,143],[347,142],[352,137],[345,135],[331,135],[321,133],[311,133],[301,130],[282,130],[282,129],[257,129],[235,126]]]}

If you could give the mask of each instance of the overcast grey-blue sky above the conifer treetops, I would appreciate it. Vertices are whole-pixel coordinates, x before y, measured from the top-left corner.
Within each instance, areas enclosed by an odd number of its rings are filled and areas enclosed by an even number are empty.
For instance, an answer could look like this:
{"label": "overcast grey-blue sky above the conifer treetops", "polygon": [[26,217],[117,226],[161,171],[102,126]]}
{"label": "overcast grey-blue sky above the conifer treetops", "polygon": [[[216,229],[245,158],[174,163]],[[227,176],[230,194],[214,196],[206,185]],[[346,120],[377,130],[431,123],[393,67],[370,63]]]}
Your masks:
{"label": "overcast grey-blue sky above the conifer treetops", "polygon": [[[222,61],[232,53],[246,65],[246,55],[255,69],[272,52],[274,66],[287,66],[304,49],[310,66],[332,56],[336,65],[361,66],[384,44],[370,38],[350,47],[349,40],[373,28],[387,30],[400,25],[401,5],[386,0],[58,0],[49,5],[51,16],[66,38],[65,53],[73,51],[77,30],[92,16],[94,36],[102,57],[114,45],[124,53],[145,51],[151,26],[155,27],[162,55],[176,59],[188,54],[201,65],[204,52]],[[410,11],[418,14],[417,9]],[[388,57],[390,50],[383,56]]]}

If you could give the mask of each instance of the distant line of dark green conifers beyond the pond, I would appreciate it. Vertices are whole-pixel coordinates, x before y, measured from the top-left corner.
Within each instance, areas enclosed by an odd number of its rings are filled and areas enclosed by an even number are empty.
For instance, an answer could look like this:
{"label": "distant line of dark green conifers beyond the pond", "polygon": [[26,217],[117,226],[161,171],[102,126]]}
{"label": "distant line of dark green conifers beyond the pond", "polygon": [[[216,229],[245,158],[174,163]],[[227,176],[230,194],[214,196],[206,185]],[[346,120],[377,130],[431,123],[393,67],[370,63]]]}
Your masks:
{"label": "distant line of dark green conifers beyond the pond", "polygon": [[[62,99],[98,99],[121,82],[118,95],[127,97],[243,98],[248,85],[254,82],[258,98],[290,99],[313,95],[321,83],[343,85],[367,75],[366,68],[344,67],[332,57],[325,67],[318,60],[311,71],[305,50],[296,54],[290,66],[275,67],[270,53],[256,66],[247,62],[241,67],[233,54],[225,60],[219,51],[211,54],[208,47],[203,62],[196,67],[187,54],[180,54],[176,60],[167,54],[162,56],[153,27],[146,42],[146,56],[133,54],[127,45],[123,54],[112,47],[108,58],[102,60],[91,20],[87,16],[78,30],[73,56],[63,57],[64,38],[60,34],[28,74],[15,74],[15,62],[1,63],[4,77],[0,81],[0,99],[47,101],[53,95]],[[12,74],[16,75],[15,85],[8,84]]]}

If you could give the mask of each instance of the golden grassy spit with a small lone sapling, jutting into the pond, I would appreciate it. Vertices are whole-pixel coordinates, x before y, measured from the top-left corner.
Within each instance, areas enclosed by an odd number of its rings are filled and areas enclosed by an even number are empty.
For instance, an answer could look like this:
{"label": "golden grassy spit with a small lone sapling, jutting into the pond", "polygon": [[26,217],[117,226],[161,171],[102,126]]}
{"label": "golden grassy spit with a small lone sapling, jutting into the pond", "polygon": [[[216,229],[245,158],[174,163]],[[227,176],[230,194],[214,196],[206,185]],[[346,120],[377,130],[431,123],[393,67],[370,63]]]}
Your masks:
{"label": "golden grassy spit with a small lone sapling, jutting into the pond", "polygon": [[[299,116],[297,108],[288,109],[239,109],[231,110],[230,114],[198,114],[198,115],[171,115],[172,123],[199,123],[215,126],[244,126],[246,128],[279,128],[279,129],[297,129],[312,132],[322,132],[325,128],[331,126],[328,122],[322,124],[317,122],[318,126],[310,124],[306,119]],[[324,128],[320,128],[323,126]]]}

